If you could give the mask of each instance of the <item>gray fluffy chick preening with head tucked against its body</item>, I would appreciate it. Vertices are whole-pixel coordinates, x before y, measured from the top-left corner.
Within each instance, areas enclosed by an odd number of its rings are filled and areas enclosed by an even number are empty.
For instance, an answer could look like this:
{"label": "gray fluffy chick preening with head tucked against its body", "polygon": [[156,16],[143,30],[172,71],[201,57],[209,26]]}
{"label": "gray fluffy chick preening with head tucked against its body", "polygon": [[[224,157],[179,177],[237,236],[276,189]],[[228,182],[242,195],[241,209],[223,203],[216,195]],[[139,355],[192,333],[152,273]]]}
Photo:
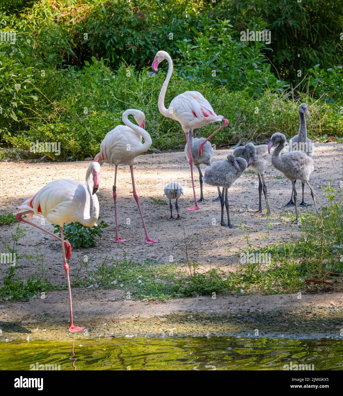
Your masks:
{"label": "gray fluffy chick preening with head tucked against its body", "polygon": [[[220,225],[228,228],[236,228],[230,222],[229,201],[227,199],[227,190],[232,183],[236,181],[246,170],[248,164],[244,158],[234,158],[233,154],[228,154],[226,160],[215,161],[211,166],[206,168],[203,181],[206,184],[223,188],[221,192],[221,220]],[[224,198],[225,191],[225,198]],[[227,224],[224,223],[224,205],[227,213]]]}

